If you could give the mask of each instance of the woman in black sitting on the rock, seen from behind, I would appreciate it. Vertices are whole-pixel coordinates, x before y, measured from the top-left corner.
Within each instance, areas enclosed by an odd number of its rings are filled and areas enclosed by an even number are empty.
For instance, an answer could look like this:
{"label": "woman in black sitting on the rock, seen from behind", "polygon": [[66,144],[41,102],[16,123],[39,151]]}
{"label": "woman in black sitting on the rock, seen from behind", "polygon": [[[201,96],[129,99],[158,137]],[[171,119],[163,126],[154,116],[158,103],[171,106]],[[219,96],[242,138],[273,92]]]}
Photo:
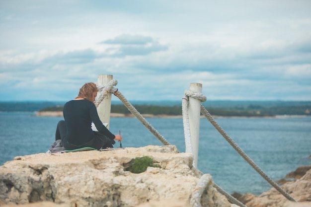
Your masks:
{"label": "woman in black sitting on the rock, seen from behind", "polygon": [[[65,121],[58,123],[55,139],[61,139],[66,150],[113,148],[114,140],[122,141],[120,135],[113,135],[100,121],[94,104],[97,92],[95,83],[85,83],[78,97],[64,105]],[[98,132],[92,130],[92,122]]]}

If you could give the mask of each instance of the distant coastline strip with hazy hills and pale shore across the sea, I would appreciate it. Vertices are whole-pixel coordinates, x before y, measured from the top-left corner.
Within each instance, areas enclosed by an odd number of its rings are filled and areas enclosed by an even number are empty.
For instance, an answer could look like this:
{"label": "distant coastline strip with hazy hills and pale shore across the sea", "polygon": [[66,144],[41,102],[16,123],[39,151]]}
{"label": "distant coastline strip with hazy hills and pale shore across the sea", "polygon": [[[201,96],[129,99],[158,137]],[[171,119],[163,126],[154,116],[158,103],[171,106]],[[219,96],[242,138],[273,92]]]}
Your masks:
{"label": "distant coastline strip with hazy hills and pale shore across the sea", "polygon": [[[135,102],[144,117],[180,118],[180,102]],[[0,102],[2,112],[34,112],[35,116],[63,116],[64,102]],[[203,107],[213,117],[288,118],[311,116],[311,101],[207,101]],[[111,103],[111,117],[133,117],[122,103]]]}

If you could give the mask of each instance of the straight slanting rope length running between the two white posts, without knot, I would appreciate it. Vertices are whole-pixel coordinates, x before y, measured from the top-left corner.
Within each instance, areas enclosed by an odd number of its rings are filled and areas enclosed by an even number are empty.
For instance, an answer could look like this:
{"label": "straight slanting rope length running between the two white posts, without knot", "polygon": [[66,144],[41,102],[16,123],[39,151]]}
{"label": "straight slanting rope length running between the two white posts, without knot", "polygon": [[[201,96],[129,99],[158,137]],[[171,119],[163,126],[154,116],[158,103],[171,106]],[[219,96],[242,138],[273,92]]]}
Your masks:
{"label": "straight slanting rope length running between the two white posts, without knot", "polygon": [[120,93],[120,91],[116,90],[113,93],[117,96],[124,106],[154,135],[158,138],[164,145],[171,145],[162,135],[160,135],[156,129],[135,109],[135,107],[128,102],[128,100]]}

